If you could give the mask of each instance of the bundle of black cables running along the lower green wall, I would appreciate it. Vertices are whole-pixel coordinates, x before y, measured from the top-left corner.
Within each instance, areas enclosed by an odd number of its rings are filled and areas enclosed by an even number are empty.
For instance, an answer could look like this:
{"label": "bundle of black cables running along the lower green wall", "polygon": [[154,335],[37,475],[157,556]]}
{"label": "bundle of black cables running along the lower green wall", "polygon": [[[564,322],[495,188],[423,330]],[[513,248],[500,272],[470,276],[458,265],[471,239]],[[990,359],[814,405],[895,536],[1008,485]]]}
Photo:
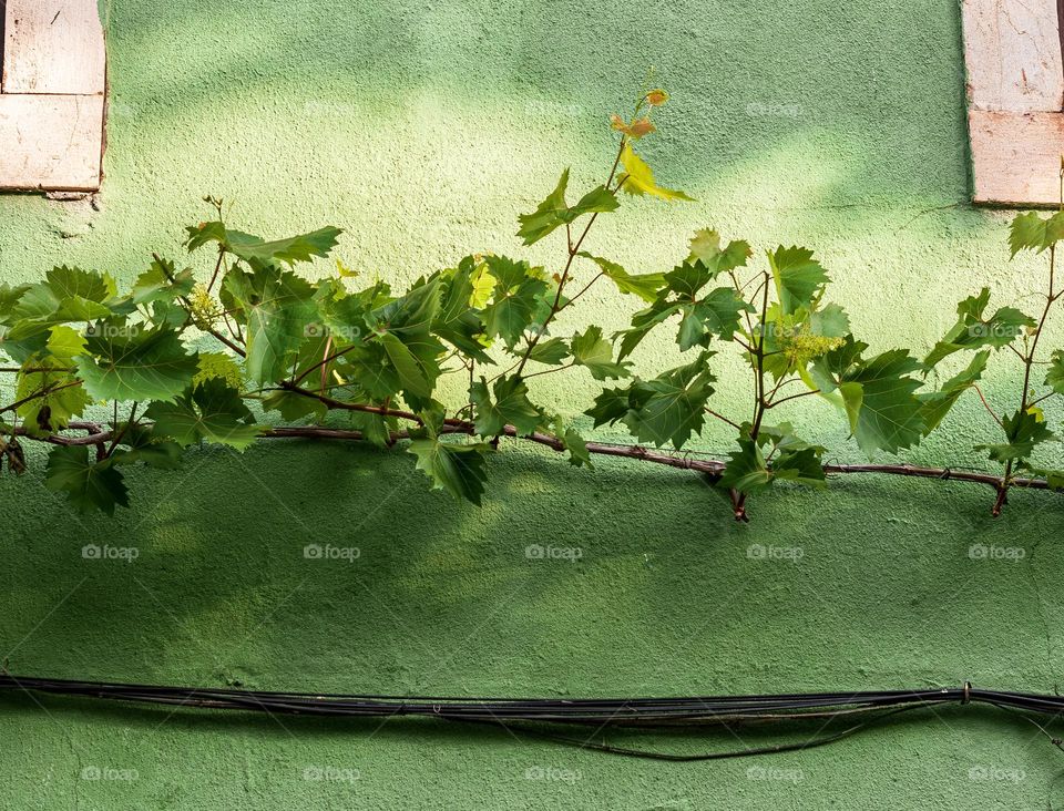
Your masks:
{"label": "bundle of black cables running along the lower green wall", "polygon": [[[0,689],[58,696],[89,697],[142,705],[214,710],[243,710],[273,715],[392,718],[413,716],[447,721],[495,725],[617,754],[663,760],[715,760],[809,749],[846,738],[870,723],[900,712],[945,705],[990,705],[1023,714],[1050,740],[1062,747],[1034,718],[1064,712],[1064,697],[1030,692],[983,690],[964,684],[923,690],[812,692],[761,696],[692,696],[664,698],[456,698],[441,696],[375,696],[264,690],[166,687],[153,685],[78,681],[0,674]],[[822,719],[852,720],[841,731],[795,743],[773,745],[697,754],[628,749],[565,737],[554,730],[593,728],[689,729],[710,725],[729,727],[747,722],[786,722]]]}

